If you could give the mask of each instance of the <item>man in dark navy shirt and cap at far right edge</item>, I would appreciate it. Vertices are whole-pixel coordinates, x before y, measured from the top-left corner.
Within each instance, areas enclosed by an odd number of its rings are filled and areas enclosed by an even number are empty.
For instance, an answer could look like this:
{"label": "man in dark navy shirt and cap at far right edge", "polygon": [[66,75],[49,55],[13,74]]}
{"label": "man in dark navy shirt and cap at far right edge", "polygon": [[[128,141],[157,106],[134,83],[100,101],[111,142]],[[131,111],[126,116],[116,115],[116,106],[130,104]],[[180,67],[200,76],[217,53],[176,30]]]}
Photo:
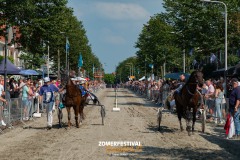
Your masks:
{"label": "man in dark navy shirt and cap at far right edge", "polygon": [[238,85],[238,82],[237,78],[232,78],[231,84],[233,86],[233,90],[229,96],[229,112],[232,114],[234,119],[236,137],[240,135],[240,86]]}

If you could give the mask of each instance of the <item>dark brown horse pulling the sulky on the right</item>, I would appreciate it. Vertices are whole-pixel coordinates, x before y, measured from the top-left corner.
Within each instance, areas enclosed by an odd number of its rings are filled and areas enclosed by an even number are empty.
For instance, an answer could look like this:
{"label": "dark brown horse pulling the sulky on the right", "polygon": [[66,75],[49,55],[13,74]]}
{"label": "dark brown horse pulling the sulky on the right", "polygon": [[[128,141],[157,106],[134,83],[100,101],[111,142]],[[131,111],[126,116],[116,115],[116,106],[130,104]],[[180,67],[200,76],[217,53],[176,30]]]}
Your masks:
{"label": "dark brown horse pulling the sulky on the right", "polygon": [[[198,102],[201,94],[197,91],[197,86],[202,87],[203,74],[201,71],[194,71],[190,75],[188,81],[183,86],[180,93],[175,93],[175,103],[177,109],[178,120],[180,123],[180,129],[183,131],[181,118],[186,119],[188,135],[190,135],[190,121],[192,118],[192,132],[194,132],[194,125],[196,121],[196,113],[198,109]],[[191,114],[192,110],[192,114]]]}

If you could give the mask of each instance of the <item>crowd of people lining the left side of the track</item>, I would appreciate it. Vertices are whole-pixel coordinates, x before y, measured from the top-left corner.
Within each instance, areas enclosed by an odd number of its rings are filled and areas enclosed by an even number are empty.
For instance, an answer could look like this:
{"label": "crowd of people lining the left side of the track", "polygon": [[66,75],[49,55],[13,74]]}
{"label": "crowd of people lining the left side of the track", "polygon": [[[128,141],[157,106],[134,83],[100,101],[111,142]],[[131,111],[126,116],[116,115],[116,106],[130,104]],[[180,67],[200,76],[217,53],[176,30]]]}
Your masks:
{"label": "crowd of people lining the left side of the track", "polygon": [[[46,86],[48,89],[51,88],[50,91],[53,92],[51,101],[49,102],[46,101]],[[85,83],[85,88],[90,92],[96,92],[98,89],[103,87],[104,83],[97,80],[89,80]],[[47,113],[47,126],[50,129],[52,125],[51,115],[52,112],[55,111],[55,108],[59,107],[61,101],[60,92],[63,92],[63,90],[61,90],[62,88],[63,86],[60,79],[53,80],[49,77],[45,77],[44,79],[35,80],[31,78],[20,78],[16,80],[14,78],[7,78],[6,91],[4,91],[4,77],[0,76],[0,126],[7,125],[4,122],[3,117],[4,108],[7,108],[8,102],[18,99],[20,100],[18,105],[21,105],[22,108],[21,118],[23,121],[28,121],[30,117],[33,116],[31,115],[33,112],[30,112],[30,110],[33,108],[32,106],[37,106],[37,104],[39,104],[40,112]],[[7,105],[4,105],[4,103]],[[51,104],[50,108],[48,104]]]}

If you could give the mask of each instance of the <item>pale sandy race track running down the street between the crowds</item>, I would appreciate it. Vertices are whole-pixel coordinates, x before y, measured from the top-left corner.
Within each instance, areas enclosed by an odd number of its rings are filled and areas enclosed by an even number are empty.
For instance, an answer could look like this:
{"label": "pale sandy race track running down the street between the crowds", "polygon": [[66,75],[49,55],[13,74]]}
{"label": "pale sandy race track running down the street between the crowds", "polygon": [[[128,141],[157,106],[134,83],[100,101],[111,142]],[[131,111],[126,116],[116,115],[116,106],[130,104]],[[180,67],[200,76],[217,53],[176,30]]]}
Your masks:
{"label": "pale sandy race track running down the street between the crowds", "polygon": [[[115,106],[113,89],[100,90],[96,94],[106,107],[105,125],[101,125],[100,107],[87,106],[86,119],[80,128],[54,126],[46,130],[46,115],[28,122],[29,129],[21,125],[0,135],[0,159],[31,160],[79,160],[79,159],[238,159],[240,141],[224,139],[222,126],[207,124],[201,133],[200,123],[196,133],[188,136],[180,132],[176,115],[163,113],[161,131],[157,131],[157,106],[127,89],[119,89],[118,107]],[[63,121],[67,122],[66,110]],[[72,123],[75,124],[72,113]],[[183,121],[185,127],[185,121]],[[138,141],[140,149],[99,146],[100,141]],[[124,148],[124,147],[123,147]],[[122,148],[122,149],[123,149]]]}

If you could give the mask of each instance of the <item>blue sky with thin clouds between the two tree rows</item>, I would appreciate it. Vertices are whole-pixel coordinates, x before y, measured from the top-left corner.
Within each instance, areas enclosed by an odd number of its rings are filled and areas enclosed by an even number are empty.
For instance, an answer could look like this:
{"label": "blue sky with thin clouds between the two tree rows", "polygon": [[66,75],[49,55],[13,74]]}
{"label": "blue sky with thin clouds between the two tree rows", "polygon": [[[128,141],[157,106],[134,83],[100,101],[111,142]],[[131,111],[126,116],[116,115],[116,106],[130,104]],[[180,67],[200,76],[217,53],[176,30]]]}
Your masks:
{"label": "blue sky with thin clouds between the two tree rows", "polygon": [[[163,0],[68,0],[83,22],[93,53],[105,73],[136,56],[135,43],[150,16],[164,11]],[[83,60],[84,61],[84,60]]]}

